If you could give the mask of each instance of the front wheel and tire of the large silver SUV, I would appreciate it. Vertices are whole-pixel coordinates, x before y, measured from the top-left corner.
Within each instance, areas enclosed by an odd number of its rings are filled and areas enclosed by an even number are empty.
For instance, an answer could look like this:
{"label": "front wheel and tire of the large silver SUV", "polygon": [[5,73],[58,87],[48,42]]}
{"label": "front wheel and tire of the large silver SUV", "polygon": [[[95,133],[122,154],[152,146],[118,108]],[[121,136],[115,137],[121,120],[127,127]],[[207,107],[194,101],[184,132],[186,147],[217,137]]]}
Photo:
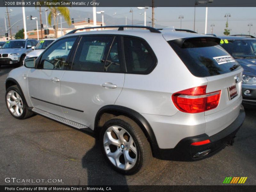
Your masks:
{"label": "front wheel and tire of the large silver SUV", "polygon": [[34,114],[28,110],[25,98],[17,85],[13,85],[6,90],[5,103],[11,115],[16,119],[26,119]]}

